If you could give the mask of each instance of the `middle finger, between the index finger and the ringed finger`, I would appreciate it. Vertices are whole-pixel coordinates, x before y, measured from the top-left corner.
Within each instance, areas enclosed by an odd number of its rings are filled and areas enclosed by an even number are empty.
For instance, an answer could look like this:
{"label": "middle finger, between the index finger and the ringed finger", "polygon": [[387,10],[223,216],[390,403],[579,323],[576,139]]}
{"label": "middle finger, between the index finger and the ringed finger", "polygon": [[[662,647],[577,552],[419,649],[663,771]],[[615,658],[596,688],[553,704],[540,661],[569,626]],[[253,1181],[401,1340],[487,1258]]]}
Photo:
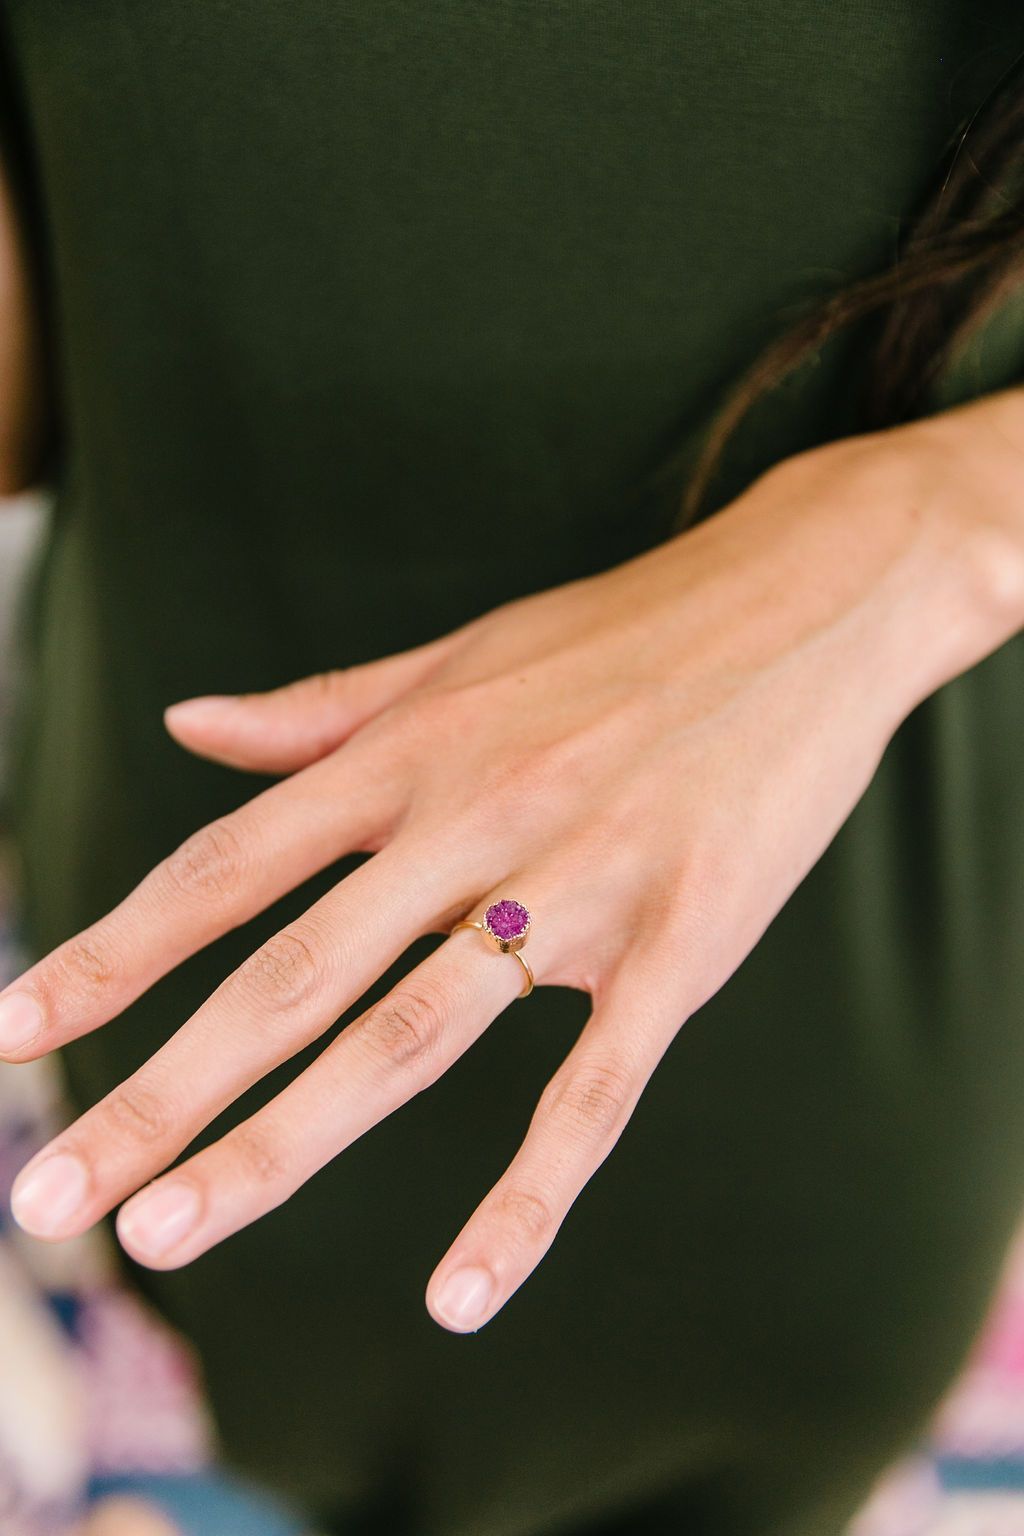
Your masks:
{"label": "middle finger, between the index finger and the ringed finger", "polygon": [[[84,1232],[330,1028],[413,938],[447,925],[453,888],[451,860],[433,842],[388,843],[256,949],[132,1077],[32,1158],[12,1189],[17,1221],[35,1236]],[[350,1026],[358,1058],[375,1049],[381,1061],[416,1054],[407,1037],[422,1009],[413,1012],[411,994],[401,1006],[408,1018],[396,1006],[378,1008],[370,1025]],[[352,1083],[341,1091],[352,1094]]]}

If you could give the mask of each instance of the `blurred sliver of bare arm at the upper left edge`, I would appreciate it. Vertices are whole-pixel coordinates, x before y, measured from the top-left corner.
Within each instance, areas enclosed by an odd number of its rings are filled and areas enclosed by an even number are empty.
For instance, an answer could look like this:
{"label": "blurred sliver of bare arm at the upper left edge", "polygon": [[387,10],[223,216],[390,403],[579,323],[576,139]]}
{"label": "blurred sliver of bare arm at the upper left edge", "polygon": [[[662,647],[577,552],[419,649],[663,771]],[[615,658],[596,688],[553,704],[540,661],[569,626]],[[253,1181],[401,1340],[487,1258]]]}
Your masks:
{"label": "blurred sliver of bare arm at the upper left edge", "polygon": [[0,163],[0,496],[28,490],[43,436],[43,366],[25,246]]}

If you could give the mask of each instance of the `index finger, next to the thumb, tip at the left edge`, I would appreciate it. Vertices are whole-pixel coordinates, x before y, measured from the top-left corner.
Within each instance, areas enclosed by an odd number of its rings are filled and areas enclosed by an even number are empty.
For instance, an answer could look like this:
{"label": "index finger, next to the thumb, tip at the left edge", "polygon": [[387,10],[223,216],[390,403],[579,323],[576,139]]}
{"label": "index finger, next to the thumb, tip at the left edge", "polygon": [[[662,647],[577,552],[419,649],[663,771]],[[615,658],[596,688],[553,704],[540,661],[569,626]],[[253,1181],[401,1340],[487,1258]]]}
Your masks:
{"label": "index finger, next to the thumb, tip at the left edge", "polygon": [[399,800],[359,739],[201,828],[115,908],[0,992],[0,1055],[28,1061],[107,1023],[204,945],[353,849],[388,836]]}

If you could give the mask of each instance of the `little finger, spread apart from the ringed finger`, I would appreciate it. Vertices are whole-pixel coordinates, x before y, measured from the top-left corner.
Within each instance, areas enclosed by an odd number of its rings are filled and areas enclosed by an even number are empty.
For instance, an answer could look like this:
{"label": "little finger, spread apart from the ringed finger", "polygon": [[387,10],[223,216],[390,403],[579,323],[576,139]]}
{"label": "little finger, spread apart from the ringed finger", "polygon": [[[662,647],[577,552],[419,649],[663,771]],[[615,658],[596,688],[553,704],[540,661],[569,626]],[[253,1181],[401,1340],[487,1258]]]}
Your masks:
{"label": "little finger, spread apart from the ringed finger", "polygon": [[679,988],[642,985],[620,968],[548,1081],[527,1137],[427,1286],[444,1327],[473,1332],[494,1316],[551,1247],[570,1207],[622,1135],[683,1021]]}

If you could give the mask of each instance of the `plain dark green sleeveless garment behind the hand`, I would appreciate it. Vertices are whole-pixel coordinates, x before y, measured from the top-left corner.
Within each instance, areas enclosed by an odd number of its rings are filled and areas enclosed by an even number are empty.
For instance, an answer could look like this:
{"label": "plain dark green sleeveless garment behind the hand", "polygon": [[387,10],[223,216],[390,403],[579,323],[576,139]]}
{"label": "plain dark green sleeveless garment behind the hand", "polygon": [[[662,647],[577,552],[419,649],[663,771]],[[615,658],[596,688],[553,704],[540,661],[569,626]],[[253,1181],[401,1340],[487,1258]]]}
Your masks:
{"label": "plain dark green sleeveless garment behind the hand", "polygon": [[[163,705],[665,539],[652,468],[803,301],[892,260],[1024,46],[1018,0],[0,17],[60,425],[15,793],[37,952],[261,786]],[[758,407],[718,504],[851,430],[863,344]],[[1021,376],[1007,303],[935,404]],[[235,1462],[347,1536],[838,1531],[961,1362],[1024,1198],[1022,682],[1015,639],[904,722],[479,1335],[424,1287],[586,1017],[570,989],[204,1258],[132,1266]],[[77,1104],[362,857],[68,1048]]]}

